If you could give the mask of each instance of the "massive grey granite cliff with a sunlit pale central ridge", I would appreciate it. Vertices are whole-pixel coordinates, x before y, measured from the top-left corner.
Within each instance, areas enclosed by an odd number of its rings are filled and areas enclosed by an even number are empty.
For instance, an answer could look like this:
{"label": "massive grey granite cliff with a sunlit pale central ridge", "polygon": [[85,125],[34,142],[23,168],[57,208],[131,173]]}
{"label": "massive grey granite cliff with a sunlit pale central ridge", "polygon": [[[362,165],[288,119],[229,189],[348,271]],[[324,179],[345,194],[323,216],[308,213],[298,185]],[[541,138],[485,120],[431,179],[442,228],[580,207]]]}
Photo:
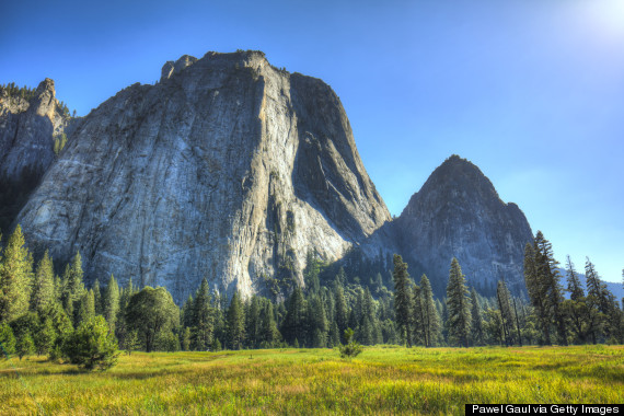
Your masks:
{"label": "massive grey granite cliff with a sunlit pale central ridge", "polygon": [[338,259],[388,220],[336,94],[255,51],[184,56],[100,105],[18,218],[55,261],[177,301],[204,277],[284,292],[309,250]]}

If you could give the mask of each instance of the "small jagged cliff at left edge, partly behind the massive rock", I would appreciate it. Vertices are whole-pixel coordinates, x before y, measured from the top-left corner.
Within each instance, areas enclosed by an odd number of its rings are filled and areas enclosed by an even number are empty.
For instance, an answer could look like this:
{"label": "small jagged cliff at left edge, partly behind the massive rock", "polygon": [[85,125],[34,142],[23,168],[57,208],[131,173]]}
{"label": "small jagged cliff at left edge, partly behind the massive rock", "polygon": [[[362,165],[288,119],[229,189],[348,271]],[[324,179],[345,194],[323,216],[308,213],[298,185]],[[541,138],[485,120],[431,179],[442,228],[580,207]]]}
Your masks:
{"label": "small jagged cliff at left edge, partly behind the massive rock", "polygon": [[55,160],[54,136],[69,125],[54,81],[45,79],[31,100],[0,91],[0,229],[8,231],[25,198]]}

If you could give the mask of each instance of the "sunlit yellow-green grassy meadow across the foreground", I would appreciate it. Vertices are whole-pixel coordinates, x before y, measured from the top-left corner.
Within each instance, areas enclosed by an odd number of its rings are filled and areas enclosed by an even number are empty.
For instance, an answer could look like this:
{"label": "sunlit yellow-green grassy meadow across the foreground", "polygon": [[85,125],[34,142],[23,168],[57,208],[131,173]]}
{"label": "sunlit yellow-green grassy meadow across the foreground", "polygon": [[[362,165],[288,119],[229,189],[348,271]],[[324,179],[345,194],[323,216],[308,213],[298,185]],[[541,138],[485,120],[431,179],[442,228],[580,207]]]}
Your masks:
{"label": "sunlit yellow-green grassy meadow across the foreground", "polygon": [[[463,414],[465,403],[622,403],[624,347],[136,353],[106,372],[12,359],[51,415]],[[0,361],[0,414],[37,407]]]}

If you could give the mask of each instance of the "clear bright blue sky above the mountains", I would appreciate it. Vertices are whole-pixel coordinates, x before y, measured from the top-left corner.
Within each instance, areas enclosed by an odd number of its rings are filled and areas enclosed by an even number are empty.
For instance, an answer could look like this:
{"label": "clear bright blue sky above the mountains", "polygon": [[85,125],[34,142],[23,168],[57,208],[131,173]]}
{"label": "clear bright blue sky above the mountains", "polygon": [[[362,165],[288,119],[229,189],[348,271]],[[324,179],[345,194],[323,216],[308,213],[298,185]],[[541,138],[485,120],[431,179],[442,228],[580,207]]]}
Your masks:
{"label": "clear bright blue sky above the mountains", "polygon": [[166,60],[259,49],[340,96],[400,215],[452,153],[563,262],[624,268],[624,1],[2,1],[0,83],[56,82],[79,115]]}

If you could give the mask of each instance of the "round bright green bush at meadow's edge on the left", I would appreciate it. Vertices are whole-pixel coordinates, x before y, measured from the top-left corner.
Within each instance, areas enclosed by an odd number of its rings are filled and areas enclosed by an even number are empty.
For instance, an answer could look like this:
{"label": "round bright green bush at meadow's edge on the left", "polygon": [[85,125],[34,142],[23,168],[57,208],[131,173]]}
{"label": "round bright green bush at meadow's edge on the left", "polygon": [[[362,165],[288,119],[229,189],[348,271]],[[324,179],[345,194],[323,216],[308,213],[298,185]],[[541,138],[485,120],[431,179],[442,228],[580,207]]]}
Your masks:
{"label": "round bright green bush at meadow's edge on the left", "polygon": [[71,363],[86,370],[106,370],[117,363],[117,340],[103,316],[80,324],[63,342],[62,354]]}

